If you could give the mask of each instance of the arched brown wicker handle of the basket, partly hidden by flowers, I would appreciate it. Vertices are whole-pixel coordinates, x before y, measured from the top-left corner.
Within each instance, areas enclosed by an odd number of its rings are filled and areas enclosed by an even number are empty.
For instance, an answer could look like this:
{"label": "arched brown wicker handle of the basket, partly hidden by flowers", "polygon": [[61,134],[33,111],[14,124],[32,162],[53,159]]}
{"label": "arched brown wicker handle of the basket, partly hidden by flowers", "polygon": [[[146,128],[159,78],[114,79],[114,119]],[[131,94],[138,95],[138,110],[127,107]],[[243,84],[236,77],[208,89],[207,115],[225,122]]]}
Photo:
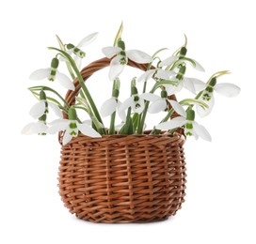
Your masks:
{"label": "arched brown wicker handle of the basket, partly hidden by flowers", "polygon": [[[81,75],[83,77],[83,80],[86,82],[88,80],[88,78],[94,73],[97,72],[98,70],[104,69],[105,67],[108,67],[110,65],[110,61],[111,59],[104,57],[102,59],[96,60],[92,63],[90,63],[87,67],[85,67],[84,69],[81,70]],[[128,66],[137,68],[137,69],[141,69],[143,71],[146,71],[148,69],[148,64],[138,64],[132,60],[128,60]],[[154,69],[152,67],[152,69]],[[81,85],[79,84],[77,78],[74,79],[73,81],[74,84],[74,91],[69,90],[66,94],[66,101],[67,103],[71,106],[72,104],[74,104],[75,102],[75,98],[79,93],[79,90],[81,89]],[[168,99],[174,99],[177,100],[175,95],[171,95],[168,97]],[[63,114],[64,118],[67,118],[67,114]],[[178,116],[179,114],[172,114],[172,118]]]}

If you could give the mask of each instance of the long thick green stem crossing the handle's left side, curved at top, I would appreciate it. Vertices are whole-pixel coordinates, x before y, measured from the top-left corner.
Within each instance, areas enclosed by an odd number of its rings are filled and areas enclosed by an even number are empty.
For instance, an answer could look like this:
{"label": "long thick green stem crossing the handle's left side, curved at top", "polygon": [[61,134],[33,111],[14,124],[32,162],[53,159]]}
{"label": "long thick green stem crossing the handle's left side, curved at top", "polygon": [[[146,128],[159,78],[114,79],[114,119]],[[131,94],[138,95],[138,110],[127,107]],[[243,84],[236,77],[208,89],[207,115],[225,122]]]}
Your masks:
{"label": "long thick green stem crossing the handle's left side, curved at top", "polygon": [[[75,74],[77,76],[77,80],[78,80],[79,84],[81,85],[81,88],[83,89],[83,91],[84,91],[84,93],[85,93],[85,95],[86,95],[86,97],[88,99],[88,103],[89,103],[89,105],[90,105],[94,115],[96,116],[96,118],[98,119],[98,121],[100,123],[104,124],[104,122],[102,120],[102,117],[101,117],[101,115],[100,115],[100,113],[99,113],[99,111],[98,111],[98,109],[97,109],[93,99],[90,96],[90,93],[88,91],[88,87],[86,86],[86,84],[85,84],[85,82],[83,80],[83,77],[82,77],[81,73],[79,72],[79,70],[77,69],[77,67],[75,65],[75,62],[73,61],[71,55],[68,54],[68,53],[65,53],[64,51],[59,50],[57,48],[50,47],[49,49],[50,50],[55,50],[55,51],[63,54],[68,59],[68,61],[70,62],[71,66],[72,66],[72,69],[74,70],[74,72],[75,72]],[[106,131],[104,130],[104,128],[103,128],[103,131],[104,131],[104,134],[106,134]]]}

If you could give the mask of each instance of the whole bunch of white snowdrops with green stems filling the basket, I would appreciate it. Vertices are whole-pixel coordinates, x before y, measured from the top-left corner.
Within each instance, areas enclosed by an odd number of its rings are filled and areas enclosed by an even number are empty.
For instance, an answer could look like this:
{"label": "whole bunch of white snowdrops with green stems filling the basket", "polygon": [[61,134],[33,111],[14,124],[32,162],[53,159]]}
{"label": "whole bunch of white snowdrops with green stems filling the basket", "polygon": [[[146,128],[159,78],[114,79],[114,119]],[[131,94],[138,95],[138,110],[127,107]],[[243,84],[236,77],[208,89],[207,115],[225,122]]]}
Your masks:
{"label": "whole bunch of white snowdrops with green stems filling the basket", "polygon": [[[194,136],[196,139],[201,137],[211,141],[211,135],[195,121],[195,117],[196,114],[203,117],[211,113],[215,103],[215,92],[229,98],[238,95],[240,88],[235,84],[217,83],[220,76],[230,72],[218,71],[206,82],[187,77],[186,70],[190,69],[190,66],[199,71],[204,71],[204,69],[195,59],[186,55],[186,37],[181,48],[162,59],[159,54],[167,49],[160,49],[152,55],[138,50],[126,50],[125,42],[121,38],[122,29],[121,24],[114,45],[102,49],[104,55],[111,59],[108,79],[112,82],[113,89],[112,94],[109,94],[109,99],[104,101],[100,109],[95,105],[94,98],[79,71],[81,61],[86,56],[83,47],[90,44],[98,33],[83,38],[76,46],[72,43],[64,44],[60,38],[56,37],[59,48],[49,48],[56,52],[50,67],[34,71],[30,79],[34,81],[48,79],[51,82],[58,82],[68,90],[74,90],[72,80],[77,79],[81,90],[76,103],[69,105],[66,99],[49,86],[29,87],[37,99],[37,103],[31,108],[29,114],[36,121],[24,127],[24,134],[45,135],[65,131],[63,145],[68,144],[72,137],[78,136],[79,132],[89,137],[143,134],[147,114],[165,112],[166,114],[160,120],[159,115],[155,116],[155,126],[151,134],[159,134],[163,131],[173,133],[178,128],[183,128],[186,136]],[[119,77],[128,59],[138,64],[147,64],[148,69],[138,78],[131,77],[131,89],[127,94],[127,99],[120,101],[119,96],[122,91]],[[60,62],[66,63],[66,74],[58,69]],[[152,87],[149,87],[150,80],[154,81]],[[138,90],[137,83],[143,83],[142,90]],[[181,93],[183,89],[189,90],[192,98],[180,101],[171,99],[171,95]],[[82,110],[90,119],[84,121],[83,113],[79,113],[82,115],[78,116],[77,110]],[[56,115],[54,121],[48,121],[50,113]],[[179,115],[171,118],[174,113]],[[110,116],[109,125],[104,125],[106,116]],[[117,116],[121,120],[119,125],[116,123]]]}

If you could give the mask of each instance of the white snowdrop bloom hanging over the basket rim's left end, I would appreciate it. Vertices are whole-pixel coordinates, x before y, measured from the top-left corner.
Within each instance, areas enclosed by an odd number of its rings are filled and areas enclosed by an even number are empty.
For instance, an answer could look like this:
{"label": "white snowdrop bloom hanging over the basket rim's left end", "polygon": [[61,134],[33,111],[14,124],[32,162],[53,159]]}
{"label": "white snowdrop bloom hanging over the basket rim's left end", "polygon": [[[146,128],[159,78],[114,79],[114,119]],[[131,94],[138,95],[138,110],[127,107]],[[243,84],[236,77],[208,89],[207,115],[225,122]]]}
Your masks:
{"label": "white snowdrop bloom hanging over the basket rim's left end", "polygon": [[63,145],[67,145],[72,137],[78,136],[78,132],[81,131],[84,135],[90,137],[102,137],[96,130],[88,126],[88,123],[79,123],[77,120],[75,109],[69,109],[69,119],[57,119],[51,123],[51,127],[46,130],[49,134],[54,134],[61,130],[66,130],[63,136]]}

